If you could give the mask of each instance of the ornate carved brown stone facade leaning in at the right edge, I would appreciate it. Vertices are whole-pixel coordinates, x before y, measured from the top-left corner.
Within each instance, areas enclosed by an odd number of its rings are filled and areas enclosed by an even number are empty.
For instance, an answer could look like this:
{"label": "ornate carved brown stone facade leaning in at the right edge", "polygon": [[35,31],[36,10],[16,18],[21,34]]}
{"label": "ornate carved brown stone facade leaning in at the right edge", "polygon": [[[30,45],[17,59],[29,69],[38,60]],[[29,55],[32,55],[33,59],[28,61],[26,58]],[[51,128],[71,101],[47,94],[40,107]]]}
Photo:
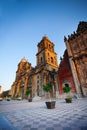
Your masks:
{"label": "ornate carved brown stone facade leaning in at the right edge", "polygon": [[79,97],[87,96],[87,22],[80,22],[77,31],[64,38]]}

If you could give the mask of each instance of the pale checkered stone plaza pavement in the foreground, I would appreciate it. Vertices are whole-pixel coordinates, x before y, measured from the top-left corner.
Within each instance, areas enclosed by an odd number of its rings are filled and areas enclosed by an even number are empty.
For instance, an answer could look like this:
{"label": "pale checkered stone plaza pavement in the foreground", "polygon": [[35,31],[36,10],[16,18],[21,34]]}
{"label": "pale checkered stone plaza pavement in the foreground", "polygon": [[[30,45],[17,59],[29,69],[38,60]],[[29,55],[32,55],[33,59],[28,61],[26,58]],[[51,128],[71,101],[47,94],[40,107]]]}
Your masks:
{"label": "pale checkered stone plaza pavement in the foreground", "polygon": [[0,130],[87,130],[87,98],[51,110],[45,101],[0,101]]}

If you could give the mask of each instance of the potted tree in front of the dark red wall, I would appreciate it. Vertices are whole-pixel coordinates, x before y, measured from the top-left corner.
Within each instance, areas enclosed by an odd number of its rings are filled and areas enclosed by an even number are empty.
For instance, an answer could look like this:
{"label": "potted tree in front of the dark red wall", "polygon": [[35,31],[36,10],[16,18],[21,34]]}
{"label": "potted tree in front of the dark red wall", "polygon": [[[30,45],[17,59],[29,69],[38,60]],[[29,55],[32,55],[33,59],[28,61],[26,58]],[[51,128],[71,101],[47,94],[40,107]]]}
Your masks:
{"label": "potted tree in front of the dark red wall", "polygon": [[68,84],[65,84],[63,91],[64,91],[64,93],[66,93],[66,98],[65,98],[66,103],[72,103],[72,97],[70,95],[70,90],[71,90],[71,87]]}

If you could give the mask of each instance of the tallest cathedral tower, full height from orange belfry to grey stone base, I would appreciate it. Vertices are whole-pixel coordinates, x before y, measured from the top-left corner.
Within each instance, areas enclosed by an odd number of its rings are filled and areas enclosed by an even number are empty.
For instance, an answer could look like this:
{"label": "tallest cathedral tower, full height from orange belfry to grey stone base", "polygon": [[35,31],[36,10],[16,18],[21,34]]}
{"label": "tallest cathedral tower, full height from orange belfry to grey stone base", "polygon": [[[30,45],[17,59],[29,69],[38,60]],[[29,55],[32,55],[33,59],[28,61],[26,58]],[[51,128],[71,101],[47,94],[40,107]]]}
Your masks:
{"label": "tallest cathedral tower, full height from orange belfry to grey stone base", "polygon": [[56,93],[56,90],[58,89],[55,89],[54,87],[58,86],[56,75],[58,71],[58,63],[57,63],[57,54],[54,51],[54,43],[52,43],[46,36],[44,36],[42,40],[38,43],[37,47],[38,47],[38,52],[36,54],[37,95],[44,96],[43,85],[47,84],[48,82],[51,83],[53,86],[53,93]]}

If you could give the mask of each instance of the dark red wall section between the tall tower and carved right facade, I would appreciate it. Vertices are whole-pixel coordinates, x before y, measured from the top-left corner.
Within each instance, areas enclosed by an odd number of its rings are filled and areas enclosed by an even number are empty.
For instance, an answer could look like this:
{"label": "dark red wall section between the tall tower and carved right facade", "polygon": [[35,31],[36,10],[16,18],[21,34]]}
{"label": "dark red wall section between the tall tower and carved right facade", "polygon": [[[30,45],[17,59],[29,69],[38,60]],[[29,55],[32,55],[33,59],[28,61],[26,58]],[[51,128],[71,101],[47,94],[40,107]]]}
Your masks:
{"label": "dark red wall section between the tall tower and carved right facade", "polygon": [[58,69],[58,87],[60,95],[64,94],[63,87],[65,86],[65,84],[68,84],[71,87],[72,94],[76,93],[67,50],[65,50],[64,56],[63,58],[61,58]]}

